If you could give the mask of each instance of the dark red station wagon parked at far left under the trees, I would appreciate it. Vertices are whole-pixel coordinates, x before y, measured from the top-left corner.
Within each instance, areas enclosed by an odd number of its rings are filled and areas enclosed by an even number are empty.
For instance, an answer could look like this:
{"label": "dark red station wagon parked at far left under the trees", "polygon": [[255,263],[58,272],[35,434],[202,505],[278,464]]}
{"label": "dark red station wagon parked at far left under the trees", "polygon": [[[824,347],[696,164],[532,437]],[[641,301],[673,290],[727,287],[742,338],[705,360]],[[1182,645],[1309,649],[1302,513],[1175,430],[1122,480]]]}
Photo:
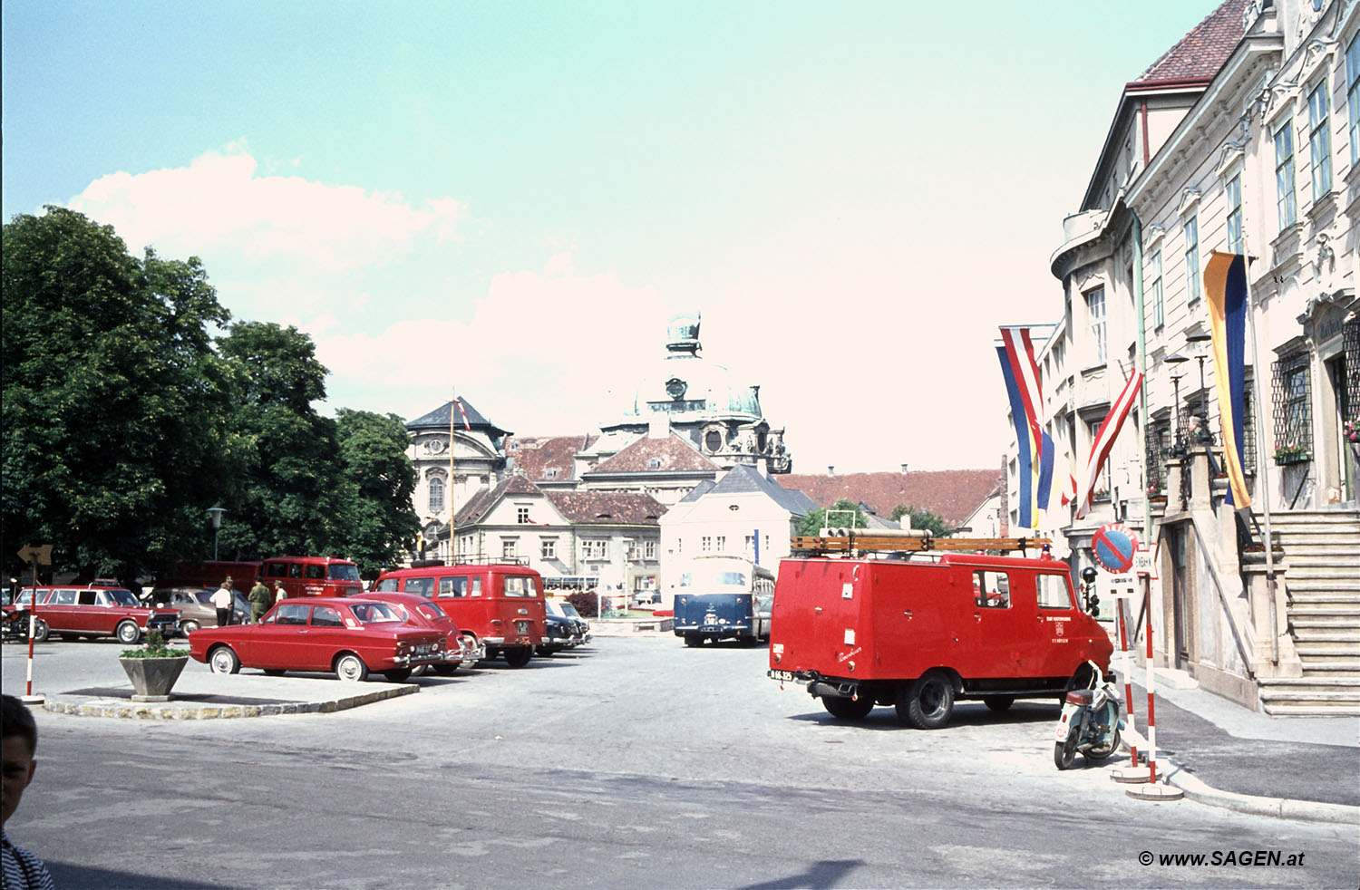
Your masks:
{"label": "dark red station wagon parked at far left under the trees", "polygon": [[[33,603],[37,601],[37,606]],[[33,640],[44,643],[53,633],[65,640],[116,636],[133,645],[148,630],[171,637],[177,633],[178,614],[165,609],[146,609],[125,587],[82,587],[56,584],[19,592],[18,607],[37,614]]]}

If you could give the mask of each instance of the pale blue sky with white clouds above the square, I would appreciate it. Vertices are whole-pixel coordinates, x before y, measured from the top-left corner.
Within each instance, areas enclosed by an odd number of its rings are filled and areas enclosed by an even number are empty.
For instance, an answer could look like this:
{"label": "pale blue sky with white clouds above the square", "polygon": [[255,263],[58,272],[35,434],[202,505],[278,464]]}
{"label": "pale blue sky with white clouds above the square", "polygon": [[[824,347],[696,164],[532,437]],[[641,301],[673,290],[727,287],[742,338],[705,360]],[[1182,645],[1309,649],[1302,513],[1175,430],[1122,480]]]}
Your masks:
{"label": "pale blue sky with white clouds above the square", "polygon": [[200,257],[325,412],[594,432],[699,313],[796,473],[1000,467],[997,326],[1214,7],[5,0],[0,201]]}

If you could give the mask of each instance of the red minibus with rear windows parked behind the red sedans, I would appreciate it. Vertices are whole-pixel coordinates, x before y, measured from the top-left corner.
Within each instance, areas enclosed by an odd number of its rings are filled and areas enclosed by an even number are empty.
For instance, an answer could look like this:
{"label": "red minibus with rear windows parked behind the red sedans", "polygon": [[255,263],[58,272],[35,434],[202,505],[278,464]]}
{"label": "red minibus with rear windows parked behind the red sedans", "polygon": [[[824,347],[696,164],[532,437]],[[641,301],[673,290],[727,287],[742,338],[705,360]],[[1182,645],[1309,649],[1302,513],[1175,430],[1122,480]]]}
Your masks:
{"label": "red minibus with rear windows parked behind the red sedans", "polygon": [[374,591],[401,591],[437,599],[473,645],[487,658],[505,654],[511,667],[524,667],[543,641],[543,577],[526,565],[426,565],[384,572]]}

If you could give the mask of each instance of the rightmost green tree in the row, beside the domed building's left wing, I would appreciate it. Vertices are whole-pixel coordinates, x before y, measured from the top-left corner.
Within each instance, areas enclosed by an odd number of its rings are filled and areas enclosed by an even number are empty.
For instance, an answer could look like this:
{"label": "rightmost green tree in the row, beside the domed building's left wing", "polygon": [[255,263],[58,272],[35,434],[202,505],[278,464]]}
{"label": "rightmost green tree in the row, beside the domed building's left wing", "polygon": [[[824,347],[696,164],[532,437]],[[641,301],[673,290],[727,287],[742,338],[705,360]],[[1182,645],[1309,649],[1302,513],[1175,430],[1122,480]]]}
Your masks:
{"label": "rightmost green tree in the row, beside the domed building's left wing", "polygon": [[340,550],[367,575],[415,549],[420,519],[411,497],[416,470],[407,457],[411,438],[396,414],[341,408],[336,413],[347,529]]}

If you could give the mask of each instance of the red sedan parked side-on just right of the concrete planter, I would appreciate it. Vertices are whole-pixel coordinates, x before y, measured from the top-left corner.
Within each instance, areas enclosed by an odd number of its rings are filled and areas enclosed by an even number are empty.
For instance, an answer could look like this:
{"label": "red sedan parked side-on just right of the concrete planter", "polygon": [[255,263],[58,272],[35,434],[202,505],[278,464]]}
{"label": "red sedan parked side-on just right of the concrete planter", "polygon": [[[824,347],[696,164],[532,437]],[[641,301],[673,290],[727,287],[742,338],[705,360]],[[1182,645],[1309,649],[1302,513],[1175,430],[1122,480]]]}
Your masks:
{"label": "red sedan parked side-on just right of the concrete planter", "polygon": [[284,599],[260,624],[200,628],[189,635],[189,655],[215,674],[335,671],[358,682],[373,670],[398,683],[412,669],[447,659],[445,632],[407,624],[392,603],[358,597]]}

